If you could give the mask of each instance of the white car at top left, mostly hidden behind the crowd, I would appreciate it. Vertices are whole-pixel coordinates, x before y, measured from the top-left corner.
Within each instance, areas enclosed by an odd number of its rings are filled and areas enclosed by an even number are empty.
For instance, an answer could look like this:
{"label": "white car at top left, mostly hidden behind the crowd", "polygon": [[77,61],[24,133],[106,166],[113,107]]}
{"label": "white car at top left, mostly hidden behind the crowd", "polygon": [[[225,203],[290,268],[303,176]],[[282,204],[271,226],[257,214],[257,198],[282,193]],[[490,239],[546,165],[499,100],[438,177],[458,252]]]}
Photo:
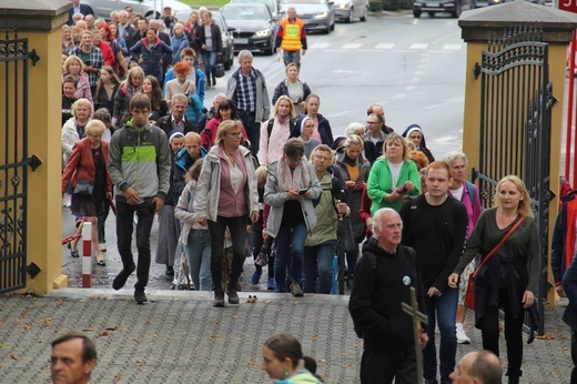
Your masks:
{"label": "white car at top left, mostly hidden behind the crowd", "polygon": [[[176,0],[82,0],[83,4],[92,8],[97,18],[110,20],[110,12],[121,11],[126,7],[131,7],[133,13],[142,13],[146,18],[156,18],[162,14],[164,7],[172,8],[172,13],[188,11],[192,12],[192,8]],[[156,6],[156,8],[154,8]],[[154,13],[154,10],[156,12]]]}

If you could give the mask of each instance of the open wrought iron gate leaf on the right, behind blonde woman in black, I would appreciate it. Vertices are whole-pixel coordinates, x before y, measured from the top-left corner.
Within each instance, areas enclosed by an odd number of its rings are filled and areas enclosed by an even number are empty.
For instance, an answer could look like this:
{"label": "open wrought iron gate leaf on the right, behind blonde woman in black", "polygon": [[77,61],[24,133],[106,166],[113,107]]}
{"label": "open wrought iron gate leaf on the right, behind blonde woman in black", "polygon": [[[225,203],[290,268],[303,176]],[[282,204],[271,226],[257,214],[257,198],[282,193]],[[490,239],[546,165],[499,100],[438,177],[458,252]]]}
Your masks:
{"label": "open wrought iron gate leaf on the right, behind blonde woman in black", "polygon": [[[482,78],[478,180],[482,204],[492,206],[495,185],[507,174],[524,180],[539,228],[544,267],[539,280],[539,334],[544,332],[549,225],[550,110],[548,44],[534,27],[505,31],[490,40],[475,69]],[[557,179],[555,179],[557,180]],[[527,322],[526,322],[527,323]]]}

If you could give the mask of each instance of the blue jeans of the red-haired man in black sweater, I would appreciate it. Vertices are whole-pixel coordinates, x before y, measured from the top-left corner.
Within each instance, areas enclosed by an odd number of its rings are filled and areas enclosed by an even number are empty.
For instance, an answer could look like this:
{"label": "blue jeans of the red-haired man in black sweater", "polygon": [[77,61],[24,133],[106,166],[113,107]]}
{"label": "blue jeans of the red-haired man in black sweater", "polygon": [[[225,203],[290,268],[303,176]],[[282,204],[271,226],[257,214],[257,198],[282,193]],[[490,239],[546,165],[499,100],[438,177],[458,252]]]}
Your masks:
{"label": "blue jeans of the red-haired man in black sweater", "polygon": [[426,380],[436,378],[437,375],[437,348],[435,346],[435,326],[438,322],[441,331],[439,371],[441,380],[448,381],[455,370],[455,355],[457,354],[457,332],[455,330],[455,316],[457,314],[458,289],[447,287],[443,295],[429,297],[427,291],[431,286],[424,286],[425,313],[428,316],[428,342],[423,350],[423,376]]}

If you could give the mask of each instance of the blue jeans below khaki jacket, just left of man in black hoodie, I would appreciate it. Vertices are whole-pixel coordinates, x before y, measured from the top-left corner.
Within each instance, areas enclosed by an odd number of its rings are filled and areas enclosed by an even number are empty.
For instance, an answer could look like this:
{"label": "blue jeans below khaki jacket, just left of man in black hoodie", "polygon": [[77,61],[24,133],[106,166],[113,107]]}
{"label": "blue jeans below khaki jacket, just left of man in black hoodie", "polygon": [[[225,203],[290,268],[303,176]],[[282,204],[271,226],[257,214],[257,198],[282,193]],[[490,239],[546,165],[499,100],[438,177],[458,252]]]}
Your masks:
{"label": "blue jeans below khaki jacket, just left of man in black hoodie", "polygon": [[318,274],[318,293],[331,294],[331,272],[336,253],[336,240],[304,247],[304,293],[315,293]]}

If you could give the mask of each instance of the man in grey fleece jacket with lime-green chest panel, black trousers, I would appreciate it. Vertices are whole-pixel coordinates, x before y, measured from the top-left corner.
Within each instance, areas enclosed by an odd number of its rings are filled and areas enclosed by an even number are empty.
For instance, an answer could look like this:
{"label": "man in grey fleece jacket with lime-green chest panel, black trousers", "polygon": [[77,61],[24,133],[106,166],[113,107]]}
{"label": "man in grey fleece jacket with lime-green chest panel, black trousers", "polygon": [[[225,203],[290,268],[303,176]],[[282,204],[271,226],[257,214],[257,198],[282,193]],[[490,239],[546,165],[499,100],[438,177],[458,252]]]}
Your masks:
{"label": "man in grey fleece jacket with lime-green chest panel, black trousers", "polygon": [[110,140],[108,171],[114,184],[117,202],[117,238],[122,271],[112,287],[120,290],[134,272],[132,231],[134,213],[138,216],[136,249],[139,262],[134,300],[146,301],[144,287],[150,271],[150,231],[154,214],[159,214],[169,192],[171,156],[166,134],[151,125],[150,100],[136,94],[130,101],[132,121],[114,132]]}

